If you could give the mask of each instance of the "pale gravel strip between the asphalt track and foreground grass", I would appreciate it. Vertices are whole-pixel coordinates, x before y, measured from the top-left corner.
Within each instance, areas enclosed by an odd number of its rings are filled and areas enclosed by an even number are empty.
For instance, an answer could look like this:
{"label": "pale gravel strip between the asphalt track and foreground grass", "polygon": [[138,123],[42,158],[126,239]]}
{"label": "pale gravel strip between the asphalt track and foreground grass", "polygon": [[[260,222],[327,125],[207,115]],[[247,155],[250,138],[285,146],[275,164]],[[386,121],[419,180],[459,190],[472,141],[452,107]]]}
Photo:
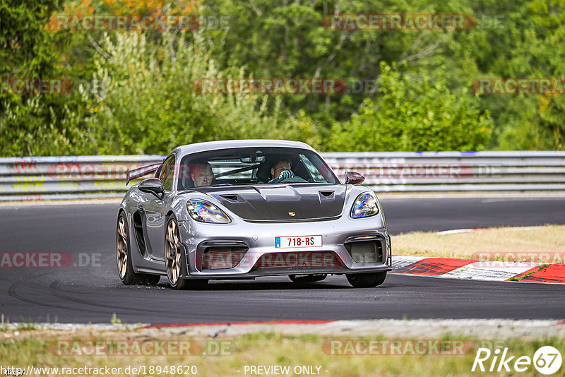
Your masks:
{"label": "pale gravel strip between the asphalt track and foreground grass", "polygon": [[[27,324],[26,324],[27,325]],[[28,328],[30,325],[27,325]],[[417,319],[333,321],[319,324],[250,323],[237,325],[191,325],[177,327],[147,327],[147,324],[63,324],[38,323],[35,330],[25,330],[18,323],[5,325],[1,337],[14,337],[36,332],[64,335],[64,333],[128,332],[136,337],[235,337],[250,333],[279,333],[281,335],[316,334],[320,336],[376,336],[385,338],[438,338],[445,335],[475,337],[484,340],[508,338],[539,339],[544,337],[565,338],[565,321],[554,320],[504,320],[504,319]],[[18,333],[18,334],[16,334]],[[109,335],[109,334],[108,334]]]}

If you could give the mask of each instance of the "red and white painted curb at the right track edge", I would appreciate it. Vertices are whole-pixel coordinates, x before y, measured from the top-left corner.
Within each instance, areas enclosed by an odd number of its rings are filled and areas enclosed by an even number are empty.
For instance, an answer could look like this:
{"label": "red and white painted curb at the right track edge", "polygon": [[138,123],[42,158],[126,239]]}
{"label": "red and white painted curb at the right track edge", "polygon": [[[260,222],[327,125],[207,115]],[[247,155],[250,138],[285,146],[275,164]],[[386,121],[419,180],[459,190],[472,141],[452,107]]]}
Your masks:
{"label": "red and white painted curb at the right track edge", "polygon": [[565,265],[393,256],[393,273],[455,279],[565,283]]}

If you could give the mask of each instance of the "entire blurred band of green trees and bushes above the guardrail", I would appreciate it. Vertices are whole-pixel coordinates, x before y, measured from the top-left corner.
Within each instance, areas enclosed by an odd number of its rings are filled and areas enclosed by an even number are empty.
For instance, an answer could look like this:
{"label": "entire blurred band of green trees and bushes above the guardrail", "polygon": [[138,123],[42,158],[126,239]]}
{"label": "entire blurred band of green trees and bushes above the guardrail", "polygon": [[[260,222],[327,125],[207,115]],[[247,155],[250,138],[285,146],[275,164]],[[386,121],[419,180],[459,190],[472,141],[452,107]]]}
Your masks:
{"label": "entire blurred band of green trees and bushes above the guardrail", "polygon": [[[477,23],[324,28],[324,16],[357,13],[468,14]],[[57,30],[61,14],[191,14],[208,25]],[[0,0],[0,78],[74,83],[66,95],[2,92],[0,154],[167,153],[231,138],[322,151],[564,150],[564,95],[471,90],[476,78],[565,76],[564,19],[565,0]],[[351,85],[332,95],[202,95],[198,78]]]}

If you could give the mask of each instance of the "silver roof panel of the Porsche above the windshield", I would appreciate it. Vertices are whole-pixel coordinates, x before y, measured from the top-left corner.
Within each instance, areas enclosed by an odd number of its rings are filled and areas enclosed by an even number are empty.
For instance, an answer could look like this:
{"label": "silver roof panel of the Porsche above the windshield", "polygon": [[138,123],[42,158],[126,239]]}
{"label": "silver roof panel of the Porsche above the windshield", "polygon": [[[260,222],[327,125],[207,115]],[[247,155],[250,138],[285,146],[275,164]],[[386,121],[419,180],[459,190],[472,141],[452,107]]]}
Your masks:
{"label": "silver roof panel of the Porsche above the windshield", "polygon": [[250,139],[250,140],[220,140],[206,141],[204,143],[194,143],[180,145],[174,148],[177,155],[188,155],[191,153],[206,152],[208,150],[218,150],[225,148],[262,148],[262,147],[286,147],[314,150],[307,143],[291,140],[269,140],[269,139]]}

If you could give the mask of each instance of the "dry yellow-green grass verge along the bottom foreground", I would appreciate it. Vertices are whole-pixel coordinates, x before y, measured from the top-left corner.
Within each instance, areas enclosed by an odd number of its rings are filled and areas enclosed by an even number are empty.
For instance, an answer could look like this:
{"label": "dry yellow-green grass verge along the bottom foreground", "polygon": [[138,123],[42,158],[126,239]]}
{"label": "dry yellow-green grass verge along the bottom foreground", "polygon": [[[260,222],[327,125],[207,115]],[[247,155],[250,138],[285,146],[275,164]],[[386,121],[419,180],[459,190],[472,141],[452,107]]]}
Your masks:
{"label": "dry yellow-green grass verge along the bottom foreground", "polygon": [[[2,334],[0,334],[1,336]],[[5,336],[5,335],[4,335]],[[3,336],[3,337],[4,337]],[[143,352],[144,342],[155,341],[191,341],[199,342],[202,345],[204,352],[206,349],[215,349],[210,347],[218,342],[226,342],[229,347],[224,347],[224,352],[211,352],[212,354],[194,354],[194,355],[179,355],[179,352],[169,355],[157,355],[152,352]],[[464,340],[466,345],[465,352],[449,352],[446,354],[417,354],[415,348],[406,347],[410,341],[403,340],[403,346],[400,347],[400,353],[395,354],[382,354],[382,347],[376,347],[374,351],[378,353],[363,354],[363,355],[343,355],[339,354],[344,352],[345,348],[340,348],[341,351],[336,351],[332,354],[331,347],[328,347],[328,342],[331,340],[341,340],[343,345],[345,342],[354,342],[357,340],[380,340],[386,341],[382,337],[361,337],[352,339],[340,339],[339,337],[319,337],[316,335],[302,335],[302,336],[287,336],[278,335],[275,333],[255,333],[242,335],[238,337],[219,337],[209,338],[207,340],[189,339],[186,337],[168,336],[164,339],[157,339],[156,337],[143,337],[143,335],[136,335],[135,333],[93,333],[88,337],[83,335],[73,335],[71,332],[57,332],[57,335],[49,333],[49,335],[42,335],[41,331],[30,331],[28,335],[20,334],[19,337],[3,338],[0,340],[0,360],[3,366],[18,366],[27,369],[28,365],[37,367],[49,368],[121,368],[122,371],[127,366],[130,367],[144,367],[148,375],[152,376],[187,376],[194,375],[194,369],[186,369],[190,373],[171,373],[170,370],[165,373],[157,373],[157,366],[164,368],[165,366],[196,366],[196,375],[198,376],[249,376],[250,373],[245,373],[246,366],[288,366],[290,373],[287,376],[301,376],[307,373],[296,373],[295,368],[302,366],[310,366],[311,371],[319,371],[320,376],[476,376],[476,372],[471,372],[473,361],[478,347],[487,347],[494,352],[494,349],[504,349],[508,347],[509,355],[528,356],[533,357],[535,351],[544,345],[551,345],[556,347],[561,354],[565,354],[565,340],[558,338],[548,338],[540,340],[521,340],[521,339],[506,339],[506,340],[472,340],[463,337],[454,337],[452,335],[444,336],[439,340],[453,341]],[[100,344],[101,342],[117,342],[126,341],[131,345],[132,342],[140,343],[141,355],[134,354],[121,354],[117,356],[90,356],[76,354],[76,352],[96,352],[95,347],[85,347],[85,342],[93,342],[93,345]],[[412,345],[418,340],[413,340]],[[425,340],[429,341],[429,340]],[[59,354],[61,342],[65,345],[77,342],[81,345],[80,348],[75,347],[75,354]],[[196,343],[193,343],[193,345]],[[364,345],[365,343],[359,343]],[[381,343],[382,344],[382,343]],[[129,346],[131,347],[131,346]],[[222,347],[222,346],[220,346]],[[128,348],[127,349],[132,349]],[[73,349],[64,348],[66,351]],[[102,348],[106,349],[107,347]],[[150,348],[151,349],[151,348]],[[198,349],[198,347],[196,348]],[[351,348],[355,352],[356,347]],[[367,348],[364,348],[367,349]],[[390,349],[390,348],[389,348]],[[440,347],[441,349],[441,347]],[[448,349],[448,348],[447,348]],[[59,350],[59,351],[58,351]],[[227,350],[227,352],[226,352]],[[102,351],[101,351],[102,352]],[[385,352],[386,353],[386,352]],[[388,352],[390,353],[390,351]],[[434,353],[434,352],[432,352]],[[516,358],[515,358],[516,359]],[[490,366],[485,363],[487,368]],[[150,367],[153,366],[153,373]],[[319,369],[317,369],[319,367]],[[302,372],[305,369],[302,369]],[[563,368],[561,368],[563,371]],[[515,372],[516,373],[516,372]],[[55,373],[33,373],[39,376],[55,376]],[[121,373],[126,375],[128,373]],[[129,373],[133,375],[135,373]],[[479,373],[480,374],[480,373]],[[528,367],[528,372],[524,375],[531,376],[533,374],[533,366]],[[61,375],[59,371],[59,375]],[[97,373],[83,373],[81,376],[86,375],[100,375]],[[102,375],[105,375],[102,373]],[[143,373],[140,373],[143,375]],[[556,373],[554,376],[563,376],[563,372]]]}

